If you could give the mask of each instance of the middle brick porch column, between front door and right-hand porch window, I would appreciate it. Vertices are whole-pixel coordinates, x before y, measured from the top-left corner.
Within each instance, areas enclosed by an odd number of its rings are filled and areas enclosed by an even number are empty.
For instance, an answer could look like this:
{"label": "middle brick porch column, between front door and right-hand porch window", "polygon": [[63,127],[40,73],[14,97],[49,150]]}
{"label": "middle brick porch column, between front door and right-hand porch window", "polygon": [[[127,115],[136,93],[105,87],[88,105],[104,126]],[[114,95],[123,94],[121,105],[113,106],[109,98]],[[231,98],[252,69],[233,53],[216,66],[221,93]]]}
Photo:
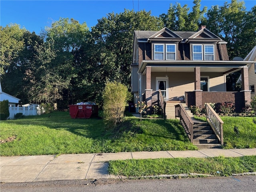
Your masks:
{"label": "middle brick porch column, between front door and right-hand porch window", "polygon": [[195,67],[194,68],[194,73],[195,73],[195,105],[198,106],[200,109],[202,109],[202,90],[201,90],[201,71],[200,67]]}

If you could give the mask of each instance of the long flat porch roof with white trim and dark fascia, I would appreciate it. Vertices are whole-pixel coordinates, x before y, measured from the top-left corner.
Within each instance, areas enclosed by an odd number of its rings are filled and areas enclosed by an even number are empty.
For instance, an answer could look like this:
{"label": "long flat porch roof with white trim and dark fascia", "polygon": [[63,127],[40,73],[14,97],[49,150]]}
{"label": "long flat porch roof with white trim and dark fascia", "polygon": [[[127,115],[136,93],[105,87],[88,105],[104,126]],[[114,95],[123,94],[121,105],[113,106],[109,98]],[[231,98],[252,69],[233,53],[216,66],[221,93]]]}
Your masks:
{"label": "long flat porch roof with white trim and dark fascia", "polygon": [[146,66],[151,66],[151,72],[194,72],[195,67],[200,67],[201,72],[220,72],[227,75],[252,63],[252,61],[143,60],[138,72],[145,74]]}

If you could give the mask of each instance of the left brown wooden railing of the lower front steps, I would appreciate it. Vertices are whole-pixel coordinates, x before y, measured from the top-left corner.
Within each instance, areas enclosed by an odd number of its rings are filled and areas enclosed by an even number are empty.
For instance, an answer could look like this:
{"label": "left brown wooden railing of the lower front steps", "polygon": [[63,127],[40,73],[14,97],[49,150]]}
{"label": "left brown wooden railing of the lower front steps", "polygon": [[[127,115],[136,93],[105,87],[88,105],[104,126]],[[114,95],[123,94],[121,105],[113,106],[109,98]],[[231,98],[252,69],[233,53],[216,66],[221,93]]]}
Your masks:
{"label": "left brown wooden railing of the lower front steps", "polygon": [[193,143],[193,121],[181,104],[175,105],[175,117],[180,118],[180,122],[182,123],[190,142]]}

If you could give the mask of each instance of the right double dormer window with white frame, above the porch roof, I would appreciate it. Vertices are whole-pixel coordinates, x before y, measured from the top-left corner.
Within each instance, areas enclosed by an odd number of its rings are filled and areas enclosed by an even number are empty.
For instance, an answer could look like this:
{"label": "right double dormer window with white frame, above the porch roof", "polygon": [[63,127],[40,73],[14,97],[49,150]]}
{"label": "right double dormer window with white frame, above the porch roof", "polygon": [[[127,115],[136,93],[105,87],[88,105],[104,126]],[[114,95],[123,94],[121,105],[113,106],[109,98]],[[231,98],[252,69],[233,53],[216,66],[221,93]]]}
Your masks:
{"label": "right double dormer window with white frame, above the porch roof", "polygon": [[192,45],[192,55],[193,60],[213,61],[214,45]]}

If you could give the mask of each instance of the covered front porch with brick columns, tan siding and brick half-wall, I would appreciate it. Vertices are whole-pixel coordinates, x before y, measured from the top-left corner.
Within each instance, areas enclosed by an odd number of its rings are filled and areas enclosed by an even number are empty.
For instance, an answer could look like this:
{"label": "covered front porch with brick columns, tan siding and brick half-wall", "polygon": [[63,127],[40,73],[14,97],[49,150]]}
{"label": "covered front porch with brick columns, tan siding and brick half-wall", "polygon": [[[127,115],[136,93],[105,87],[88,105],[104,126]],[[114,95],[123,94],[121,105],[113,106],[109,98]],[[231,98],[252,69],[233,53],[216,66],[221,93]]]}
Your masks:
{"label": "covered front porch with brick columns, tan siding and brick half-wall", "polygon": [[[194,72],[192,72],[192,68]],[[202,109],[205,103],[232,102],[235,104],[235,111],[241,112],[242,108],[250,104],[247,66],[236,66],[236,68],[234,68],[234,64],[229,67],[218,68],[213,65],[211,67],[208,65],[207,67],[190,66],[185,68],[169,66],[169,68],[165,68],[165,73],[163,70],[164,68],[161,67],[145,66],[142,73],[145,82],[145,86],[142,86],[142,90],[144,88],[142,100],[146,101],[147,106],[157,104],[164,108],[164,101],[171,101],[184,102],[186,106],[198,106]],[[242,90],[240,92],[226,92],[226,75],[235,70],[241,70]],[[165,78],[163,74],[166,74]],[[206,86],[202,87],[204,79],[207,82]],[[159,82],[164,82],[164,86],[162,86],[164,89],[160,88]],[[161,95],[163,96],[162,99]],[[151,108],[148,109],[148,113],[150,112]]]}

